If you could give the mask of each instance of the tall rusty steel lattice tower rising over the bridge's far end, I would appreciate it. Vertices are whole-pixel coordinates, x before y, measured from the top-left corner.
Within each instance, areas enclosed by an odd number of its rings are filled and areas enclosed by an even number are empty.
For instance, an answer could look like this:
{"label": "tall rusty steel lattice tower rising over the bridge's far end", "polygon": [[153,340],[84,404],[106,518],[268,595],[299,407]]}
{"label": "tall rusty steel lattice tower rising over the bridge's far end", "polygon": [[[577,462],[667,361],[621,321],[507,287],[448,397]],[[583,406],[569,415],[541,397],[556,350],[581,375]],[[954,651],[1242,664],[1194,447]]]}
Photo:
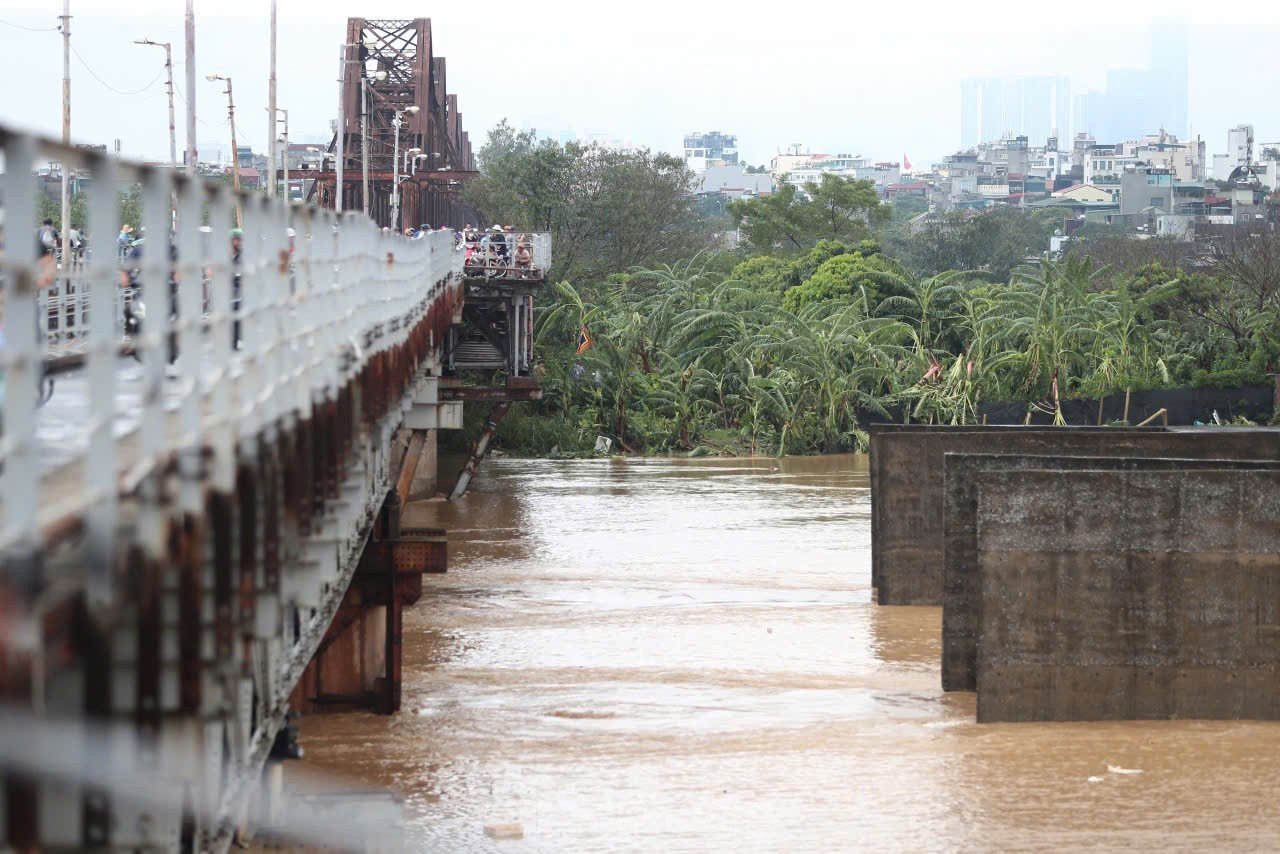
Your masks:
{"label": "tall rusty steel lattice tower rising over the bridge's far end", "polygon": [[[463,182],[474,177],[471,140],[462,129],[456,95],[447,87],[445,60],[435,56],[431,20],[347,19],[347,45],[351,59],[344,67],[343,99],[343,207],[362,209],[362,128],[367,123],[370,215],[379,225],[393,225],[392,182],[397,174],[412,173],[401,183],[401,223],[461,228],[460,195]],[[378,79],[379,72],[385,77]],[[362,91],[367,87],[367,95]],[[419,149],[421,157],[394,164],[396,114],[402,113],[399,151]],[[365,110],[367,108],[367,115]],[[330,151],[337,147],[337,138]],[[315,175],[319,201],[332,207],[337,175],[325,170]]]}

